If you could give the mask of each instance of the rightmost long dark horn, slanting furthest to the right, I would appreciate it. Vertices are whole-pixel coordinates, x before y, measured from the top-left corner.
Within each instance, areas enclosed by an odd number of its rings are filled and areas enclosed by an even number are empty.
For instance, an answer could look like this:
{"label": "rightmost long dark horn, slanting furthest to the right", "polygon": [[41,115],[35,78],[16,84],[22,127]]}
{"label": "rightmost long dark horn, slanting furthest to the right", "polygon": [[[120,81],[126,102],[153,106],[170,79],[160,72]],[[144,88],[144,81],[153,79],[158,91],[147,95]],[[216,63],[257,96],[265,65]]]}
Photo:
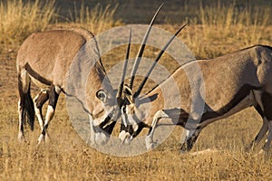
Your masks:
{"label": "rightmost long dark horn, slanting furthest to the right", "polygon": [[134,93],[133,97],[134,98],[137,98],[140,93],[141,93],[141,90],[144,86],[144,84],[146,83],[146,81],[148,80],[148,78],[150,77],[151,75],[151,72],[153,71],[153,69],[155,68],[157,62],[159,62],[160,60],[160,57],[162,56],[162,54],[166,51],[166,49],[168,48],[168,46],[170,45],[170,43],[172,43],[172,41],[175,39],[175,37],[180,33],[180,31],[186,26],[187,24],[184,24],[180,27],[180,29],[170,38],[170,41],[168,43],[166,43],[164,45],[164,47],[162,48],[162,50],[160,51],[160,53],[158,54],[157,58],[155,59],[155,61],[153,62],[153,64],[151,65],[151,68],[150,70],[146,73],[145,77],[144,77],[144,80],[141,81],[141,84],[138,88],[138,90]]}

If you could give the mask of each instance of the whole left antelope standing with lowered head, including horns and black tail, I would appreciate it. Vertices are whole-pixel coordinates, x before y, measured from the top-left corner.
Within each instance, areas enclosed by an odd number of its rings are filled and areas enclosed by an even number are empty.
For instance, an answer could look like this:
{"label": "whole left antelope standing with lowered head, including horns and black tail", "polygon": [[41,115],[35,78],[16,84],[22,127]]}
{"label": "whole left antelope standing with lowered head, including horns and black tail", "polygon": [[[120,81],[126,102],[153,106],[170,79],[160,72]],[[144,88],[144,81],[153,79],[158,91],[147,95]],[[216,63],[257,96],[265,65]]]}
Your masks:
{"label": "whole left antelope standing with lowered head, including horns and black tail", "polygon": [[[161,7],[162,5],[154,14],[143,38],[139,57]],[[103,68],[98,45],[92,33],[84,29],[33,33],[21,45],[16,66],[20,95],[19,139],[24,140],[25,116],[31,129],[34,129],[34,113],[42,129],[38,143],[47,138],[45,134],[47,134],[48,125],[53,119],[59,94],[63,92],[79,100],[83,109],[89,114],[91,144],[107,142],[116,123],[115,120],[121,116],[121,104],[125,101],[122,88],[127,65],[124,64],[121,84],[116,94]],[[34,101],[30,93],[31,80],[42,89]],[[47,100],[49,104],[44,120],[42,107]]]}

